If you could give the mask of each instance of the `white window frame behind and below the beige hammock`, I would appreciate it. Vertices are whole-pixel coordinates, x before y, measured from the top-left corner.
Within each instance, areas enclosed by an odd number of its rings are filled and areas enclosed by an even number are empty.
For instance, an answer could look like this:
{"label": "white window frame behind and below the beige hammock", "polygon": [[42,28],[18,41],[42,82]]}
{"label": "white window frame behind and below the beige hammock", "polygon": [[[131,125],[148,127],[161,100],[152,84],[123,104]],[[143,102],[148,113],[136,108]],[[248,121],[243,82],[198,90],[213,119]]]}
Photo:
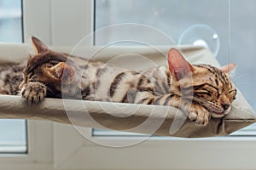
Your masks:
{"label": "white window frame behind and below the beige hammock", "polygon": [[[61,8],[60,8],[61,7]],[[72,46],[93,31],[93,0],[23,0],[24,39]],[[61,16],[61,17],[60,17]],[[67,21],[68,20],[68,21]],[[72,32],[72,33],[71,33]],[[92,45],[91,41],[91,45]],[[107,148],[84,139],[72,126],[28,121],[28,153],[0,156],[3,169],[254,169],[256,138],[148,139]],[[88,128],[86,133],[91,134]],[[105,143],[129,137],[91,137]]]}

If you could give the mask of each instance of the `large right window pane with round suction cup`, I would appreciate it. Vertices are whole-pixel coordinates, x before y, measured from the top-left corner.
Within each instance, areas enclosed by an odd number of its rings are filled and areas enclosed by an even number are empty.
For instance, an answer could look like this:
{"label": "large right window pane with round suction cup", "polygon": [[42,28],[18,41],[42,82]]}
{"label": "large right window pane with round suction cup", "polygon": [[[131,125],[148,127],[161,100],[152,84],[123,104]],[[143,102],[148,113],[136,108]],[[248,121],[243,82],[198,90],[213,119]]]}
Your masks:
{"label": "large right window pane with round suction cup", "polygon": [[[252,22],[256,19],[255,6],[254,0],[242,3],[239,0],[97,0],[95,30],[115,24],[137,23],[165,32],[176,44],[205,45],[221,65],[238,64],[233,81],[255,109],[256,24]],[[95,44],[106,45],[114,37],[136,33],[109,31],[98,37],[96,34]],[[154,35],[148,37],[156,40],[153,45],[168,45]],[[253,126],[247,127],[235,134],[252,135],[256,132],[254,129]]]}

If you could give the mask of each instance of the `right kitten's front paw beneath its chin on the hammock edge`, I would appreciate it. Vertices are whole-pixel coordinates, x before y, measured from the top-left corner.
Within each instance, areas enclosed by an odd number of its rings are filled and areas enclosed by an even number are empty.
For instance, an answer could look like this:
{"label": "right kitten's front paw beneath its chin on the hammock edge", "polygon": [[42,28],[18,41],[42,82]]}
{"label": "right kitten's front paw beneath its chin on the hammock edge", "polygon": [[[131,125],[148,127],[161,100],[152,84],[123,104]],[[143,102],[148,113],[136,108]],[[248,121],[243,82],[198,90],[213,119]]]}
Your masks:
{"label": "right kitten's front paw beneath its chin on the hammock edge", "polygon": [[197,125],[206,126],[211,118],[211,114],[201,105],[191,105],[189,119],[195,121]]}

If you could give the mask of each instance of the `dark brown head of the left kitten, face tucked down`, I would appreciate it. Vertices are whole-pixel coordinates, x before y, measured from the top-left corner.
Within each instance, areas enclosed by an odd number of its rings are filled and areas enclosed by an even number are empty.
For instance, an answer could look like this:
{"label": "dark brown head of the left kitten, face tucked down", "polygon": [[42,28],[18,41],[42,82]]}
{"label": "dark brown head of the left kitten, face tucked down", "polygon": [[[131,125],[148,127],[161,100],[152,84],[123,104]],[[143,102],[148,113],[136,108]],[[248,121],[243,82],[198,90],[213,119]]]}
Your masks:
{"label": "dark brown head of the left kitten, face tucked down", "polygon": [[27,82],[43,82],[49,93],[61,94],[61,83],[72,83],[75,76],[73,66],[66,64],[67,55],[50,50],[37,37],[32,37],[32,45],[35,54],[27,61],[20,89]]}

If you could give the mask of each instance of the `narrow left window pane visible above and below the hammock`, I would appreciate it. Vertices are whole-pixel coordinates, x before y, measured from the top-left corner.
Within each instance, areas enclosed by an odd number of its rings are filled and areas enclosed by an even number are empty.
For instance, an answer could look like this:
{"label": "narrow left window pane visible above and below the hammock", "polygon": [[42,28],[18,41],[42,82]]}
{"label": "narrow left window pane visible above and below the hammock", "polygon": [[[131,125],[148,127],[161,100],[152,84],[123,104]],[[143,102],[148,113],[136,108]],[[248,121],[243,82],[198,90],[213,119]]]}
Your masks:
{"label": "narrow left window pane visible above and below the hammock", "polygon": [[[0,42],[22,42],[22,2],[0,0]],[[26,152],[26,121],[0,120],[0,153]]]}

